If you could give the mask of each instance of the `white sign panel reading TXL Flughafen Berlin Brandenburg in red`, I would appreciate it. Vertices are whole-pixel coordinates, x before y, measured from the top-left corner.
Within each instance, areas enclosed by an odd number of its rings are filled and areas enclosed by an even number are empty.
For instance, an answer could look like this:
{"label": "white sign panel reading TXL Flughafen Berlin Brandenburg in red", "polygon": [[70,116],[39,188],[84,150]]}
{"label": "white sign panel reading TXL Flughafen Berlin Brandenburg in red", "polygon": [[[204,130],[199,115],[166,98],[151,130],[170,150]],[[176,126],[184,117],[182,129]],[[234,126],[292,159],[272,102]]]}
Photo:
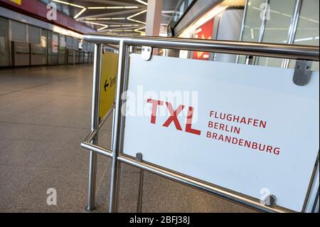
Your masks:
{"label": "white sign panel reading TXL Flughafen Berlin Brandenburg in red", "polygon": [[291,69],[134,54],[130,65],[124,154],[302,211],[319,152],[319,73],[300,87]]}

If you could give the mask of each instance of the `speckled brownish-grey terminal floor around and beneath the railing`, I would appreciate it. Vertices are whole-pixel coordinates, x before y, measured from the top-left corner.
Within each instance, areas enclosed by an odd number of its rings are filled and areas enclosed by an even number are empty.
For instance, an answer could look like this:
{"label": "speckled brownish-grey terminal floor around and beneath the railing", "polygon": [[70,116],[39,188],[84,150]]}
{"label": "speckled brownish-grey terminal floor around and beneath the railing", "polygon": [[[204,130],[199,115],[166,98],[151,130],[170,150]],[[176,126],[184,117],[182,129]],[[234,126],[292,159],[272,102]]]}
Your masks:
{"label": "speckled brownish-grey terminal floor around and beneath the railing", "polygon": [[[92,66],[0,70],[0,212],[85,212]],[[110,146],[110,120],[100,133]],[[139,171],[122,165],[119,211],[134,212]],[[250,212],[145,174],[144,212]],[[97,211],[109,203],[110,159],[99,157]],[[48,206],[47,190],[58,194]],[[161,189],[161,190],[160,190]]]}

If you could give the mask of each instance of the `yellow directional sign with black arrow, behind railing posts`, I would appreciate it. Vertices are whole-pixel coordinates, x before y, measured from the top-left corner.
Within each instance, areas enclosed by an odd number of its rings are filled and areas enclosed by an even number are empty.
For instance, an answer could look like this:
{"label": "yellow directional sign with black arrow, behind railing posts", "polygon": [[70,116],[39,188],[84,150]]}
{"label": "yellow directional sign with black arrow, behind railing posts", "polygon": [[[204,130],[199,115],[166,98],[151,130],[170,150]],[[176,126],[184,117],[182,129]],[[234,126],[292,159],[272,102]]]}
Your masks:
{"label": "yellow directional sign with black arrow, behind railing posts", "polygon": [[118,71],[118,54],[104,53],[101,67],[100,119],[105,117],[114,103]]}

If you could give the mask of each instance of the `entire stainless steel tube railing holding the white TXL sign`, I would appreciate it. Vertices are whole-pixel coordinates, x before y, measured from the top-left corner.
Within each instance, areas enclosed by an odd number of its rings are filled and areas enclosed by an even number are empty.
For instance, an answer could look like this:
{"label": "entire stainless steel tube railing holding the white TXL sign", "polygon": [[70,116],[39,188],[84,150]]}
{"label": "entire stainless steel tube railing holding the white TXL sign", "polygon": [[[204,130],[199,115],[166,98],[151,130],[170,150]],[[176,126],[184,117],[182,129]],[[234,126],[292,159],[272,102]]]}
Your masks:
{"label": "entire stainless steel tube railing holding the white TXL sign", "polygon": [[[293,46],[274,43],[245,43],[239,41],[204,41],[184,38],[161,38],[143,36],[105,36],[103,34],[88,34],[84,36],[85,41],[95,43],[95,62],[93,72],[92,89],[92,121],[91,132],[81,143],[81,147],[90,151],[90,170],[88,185],[87,211],[95,209],[95,174],[97,169],[97,154],[112,158],[112,173],[110,187],[110,212],[117,212],[119,197],[120,163],[129,164],[141,170],[163,176],[167,179],[191,186],[195,189],[206,191],[209,194],[220,198],[242,204],[257,211],[265,212],[289,212],[290,210],[278,206],[269,207],[260,203],[257,199],[237,194],[219,186],[214,186],[198,179],[193,179],[183,174],[178,174],[169,169],[156,167],[153,164],[128,157],[122,153],[124,137],[124,116],[121,114],[121,107],[124,104],[121,100],[122,93],[127,89],[127,78],[129,68],[129,46],[149,46],[151,48],[171,48],[188,51],[206,51],[215,53],[230,53],[238,55],[265,56],[273,58],[288,58],[297,60],[319,61],[319,47],[316,46]],[[119,45],[119,65],[117,75],[117,93],[115,104],[99,124],[99,96],[101,77],[101,56],[102,45]],[[112,124],[112,145],[106,149],[97,145],[97,134],[107,117],[113,112]],[[316,206],[317,196],[319,197],[319,159],[316,161],[314,176],[309,186],[309,194],[304,204],[304,212],[319,210]],[[318,179],[318,180],[316,180]],[[141,182],[140,182],[141,183]],[[142,191],[139,188],[138,211],[141,211]],[[319,201],[319,198],[318,198]],[[139,207],[140,206],[140,207]]]}

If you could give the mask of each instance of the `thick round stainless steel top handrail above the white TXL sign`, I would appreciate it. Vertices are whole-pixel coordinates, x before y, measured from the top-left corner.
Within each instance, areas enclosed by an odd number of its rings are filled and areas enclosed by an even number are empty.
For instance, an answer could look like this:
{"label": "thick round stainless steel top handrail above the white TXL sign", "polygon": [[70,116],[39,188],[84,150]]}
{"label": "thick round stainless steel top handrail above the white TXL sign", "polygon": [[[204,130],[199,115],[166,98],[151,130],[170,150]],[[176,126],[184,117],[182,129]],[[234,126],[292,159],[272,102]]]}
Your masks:
{"label": "thick round stainless steel top handrail above the white TXL sign", "polygon": [[106,36],[87,34],[85,41],[97,44],[119,45],[121,41],[129,46],[152,46],[189,51],[205,51],[239,55],[263,56],[319,61],[319,46],[301,46],[277,43],[249,43],[240,41],[213,41],[190,38],[164,38],[151,36]]}

